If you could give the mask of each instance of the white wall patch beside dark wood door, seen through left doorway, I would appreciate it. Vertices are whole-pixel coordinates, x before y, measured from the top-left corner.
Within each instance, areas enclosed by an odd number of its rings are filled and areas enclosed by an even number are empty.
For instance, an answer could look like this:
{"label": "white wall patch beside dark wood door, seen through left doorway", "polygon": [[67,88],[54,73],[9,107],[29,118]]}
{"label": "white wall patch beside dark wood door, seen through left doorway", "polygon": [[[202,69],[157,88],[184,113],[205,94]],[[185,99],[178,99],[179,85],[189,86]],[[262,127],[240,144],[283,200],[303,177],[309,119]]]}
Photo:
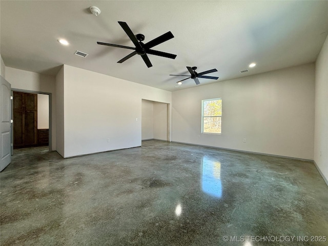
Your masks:
{"label": "white wall patch beside dark wood door, seen through left doorway", "polygon": [[49,129],[49,95],[37,94],[37,129]]}

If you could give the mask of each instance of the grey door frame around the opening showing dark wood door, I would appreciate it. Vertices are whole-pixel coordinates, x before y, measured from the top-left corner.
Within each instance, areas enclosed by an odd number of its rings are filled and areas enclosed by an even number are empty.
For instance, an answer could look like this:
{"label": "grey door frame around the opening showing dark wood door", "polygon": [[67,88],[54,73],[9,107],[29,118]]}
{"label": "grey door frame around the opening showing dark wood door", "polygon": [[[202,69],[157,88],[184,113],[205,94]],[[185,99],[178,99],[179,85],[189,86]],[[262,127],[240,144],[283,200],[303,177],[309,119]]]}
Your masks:
{"label": "grey door frame around the opening showing dark wood door", "polygon": [[[49,151],[52,150],[52,93],[50,92],[43,92],[43,91],[29,91],[29,90],[20,90],[11,88],[11,96],[13,96],[14,91],[16,92],[25,92],[25,93],[32,93],[32,94],[44,94],[49,96]],[[11,119],[13,119],[14,110],[13,110],[13,100],[11,100]],[[14,131],[13,131],[13,123],[11,123],[11,155],[13,155],[14,151]]]}

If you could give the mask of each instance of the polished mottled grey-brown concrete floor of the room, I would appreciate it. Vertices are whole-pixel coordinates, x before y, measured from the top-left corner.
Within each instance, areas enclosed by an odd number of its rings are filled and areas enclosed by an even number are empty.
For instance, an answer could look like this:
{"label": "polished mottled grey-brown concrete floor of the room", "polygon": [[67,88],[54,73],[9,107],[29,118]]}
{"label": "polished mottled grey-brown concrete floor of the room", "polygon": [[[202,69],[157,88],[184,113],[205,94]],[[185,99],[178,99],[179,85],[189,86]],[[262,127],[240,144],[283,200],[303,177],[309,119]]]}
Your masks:
{"label": "polished mottled grey-brown concrete floor of the room", "polygon": [[311,242],[328,237],[328,187],[309,161],[165,141],[68,159],[19,149],[1,173],[0,236],[1,245],[328,245]]}

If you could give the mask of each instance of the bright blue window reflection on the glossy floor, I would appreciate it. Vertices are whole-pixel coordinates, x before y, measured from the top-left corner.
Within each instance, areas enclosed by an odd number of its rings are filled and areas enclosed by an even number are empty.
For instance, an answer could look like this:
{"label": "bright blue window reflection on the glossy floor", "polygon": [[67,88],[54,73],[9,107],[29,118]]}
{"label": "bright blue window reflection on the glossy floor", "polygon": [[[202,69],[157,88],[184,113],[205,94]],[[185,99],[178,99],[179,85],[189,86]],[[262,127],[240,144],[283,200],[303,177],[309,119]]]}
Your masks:
{"label": "bright blue window reflection on the glossy floor", "polygon": [[218,160],[212,160],[208,156],[203,156],[202,160],[202,191],[215,197],[222,196],[221,183],[221,163]]}

